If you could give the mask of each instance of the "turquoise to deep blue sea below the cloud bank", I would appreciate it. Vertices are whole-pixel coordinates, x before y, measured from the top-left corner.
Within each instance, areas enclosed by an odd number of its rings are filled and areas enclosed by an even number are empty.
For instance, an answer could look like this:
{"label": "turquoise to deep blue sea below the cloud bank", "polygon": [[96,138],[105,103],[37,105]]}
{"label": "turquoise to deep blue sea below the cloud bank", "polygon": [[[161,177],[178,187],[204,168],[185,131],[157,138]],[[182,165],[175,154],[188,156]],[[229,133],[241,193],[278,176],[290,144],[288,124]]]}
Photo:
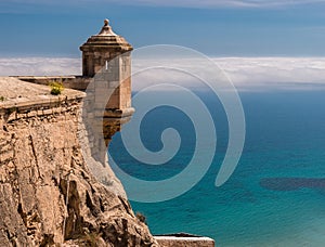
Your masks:
{"label": "turquoise to deep blue sea below the cloud bank", "polygon": [[[226,116],[218,98],[198,94],[217,128],[213,162],[199,183],[177,198],[131,202],[134,211],[145,214],[153,234],[187,232],[212,237],[217,246],[324,246],[325,91],[240,92],[245,147],[235,172],[220,187],[214,180],[227,145]],[[143,119],[144,145],[159,151],[161,131],[168,127],[179,131],[182,143],[164,166],[139,162],[128,154],[119,133],[109,154],[139,179],[170,178],[186,167],[196,139],[184,113],[161,106]]]}

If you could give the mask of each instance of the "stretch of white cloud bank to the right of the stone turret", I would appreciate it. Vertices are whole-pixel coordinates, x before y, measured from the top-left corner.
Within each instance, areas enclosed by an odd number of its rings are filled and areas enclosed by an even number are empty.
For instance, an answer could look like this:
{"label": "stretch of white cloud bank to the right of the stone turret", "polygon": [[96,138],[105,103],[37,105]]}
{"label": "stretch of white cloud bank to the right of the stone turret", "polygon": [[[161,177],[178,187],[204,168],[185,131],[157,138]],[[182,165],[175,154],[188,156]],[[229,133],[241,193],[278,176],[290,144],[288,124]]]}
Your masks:
{"label": "stretch of white cloud bank to the right of the stone turret", "polygon": [[[325,89],[325,57],[218,57],[212,61],[238,90]],[[205,60],[147,60],[134,61],[133,64],[133,72],[154,67],[133,78],[134,90],[160,82],[204,87],[196,77],[226,80],[217,66],[211,66]],[[157,69],[155,66],[160,67]]]}

